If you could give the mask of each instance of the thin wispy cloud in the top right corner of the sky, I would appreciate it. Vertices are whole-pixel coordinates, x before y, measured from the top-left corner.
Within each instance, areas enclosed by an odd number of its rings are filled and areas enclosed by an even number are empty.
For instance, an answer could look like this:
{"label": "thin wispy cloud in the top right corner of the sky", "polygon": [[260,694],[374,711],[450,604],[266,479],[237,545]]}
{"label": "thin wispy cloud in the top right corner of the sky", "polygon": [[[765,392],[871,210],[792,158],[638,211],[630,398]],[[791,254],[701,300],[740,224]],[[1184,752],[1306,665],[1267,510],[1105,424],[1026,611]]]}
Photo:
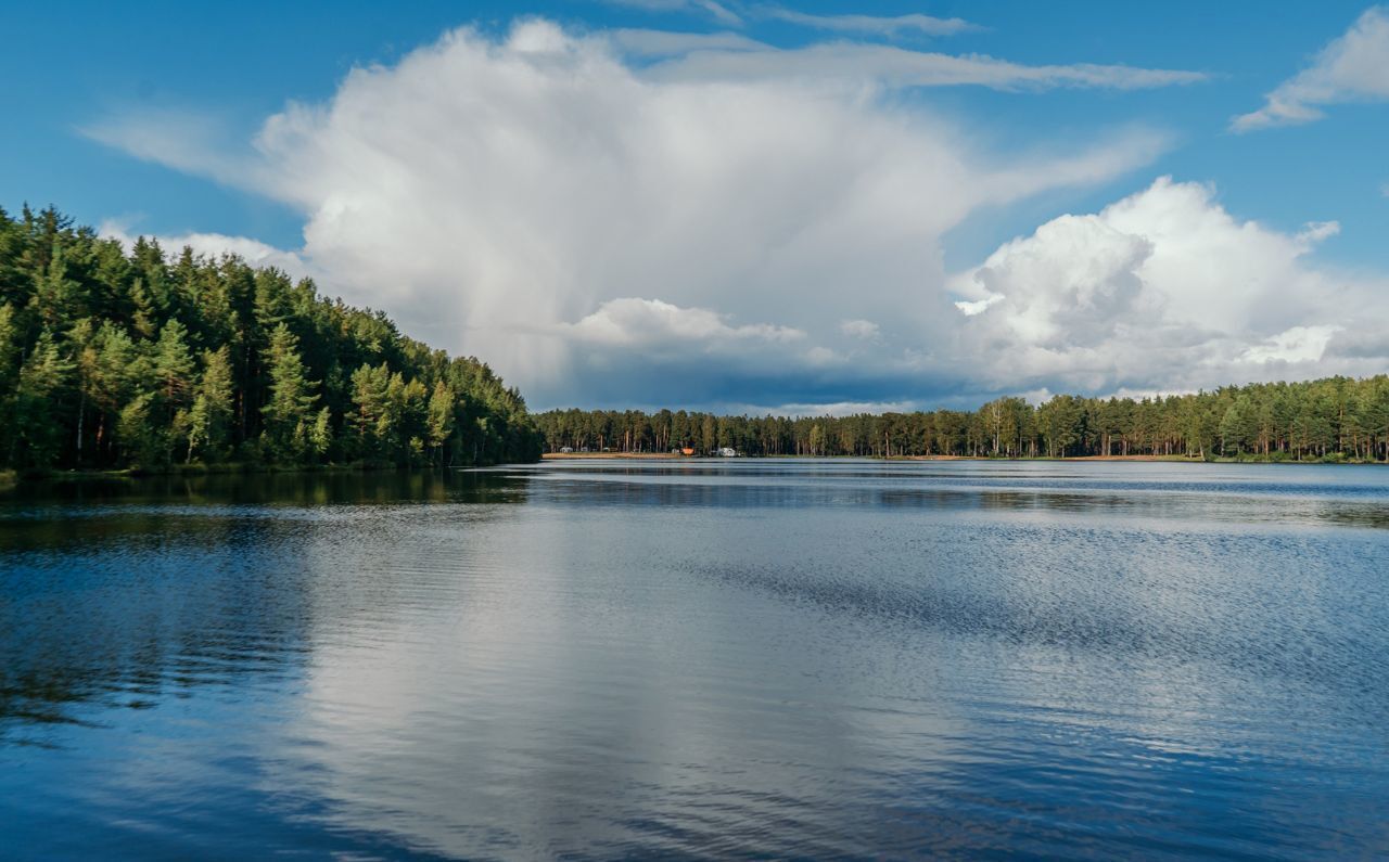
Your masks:
{"label": "thin wispy cloud in the top right corner of the sky", "polygon": [[1281,83],[1264,107],[1231,121],[1233,132],[1313,122],[1324,108],[1349,101],[1389,100],[1389,10],[1372,7],[1317,54],[1310,67]]}

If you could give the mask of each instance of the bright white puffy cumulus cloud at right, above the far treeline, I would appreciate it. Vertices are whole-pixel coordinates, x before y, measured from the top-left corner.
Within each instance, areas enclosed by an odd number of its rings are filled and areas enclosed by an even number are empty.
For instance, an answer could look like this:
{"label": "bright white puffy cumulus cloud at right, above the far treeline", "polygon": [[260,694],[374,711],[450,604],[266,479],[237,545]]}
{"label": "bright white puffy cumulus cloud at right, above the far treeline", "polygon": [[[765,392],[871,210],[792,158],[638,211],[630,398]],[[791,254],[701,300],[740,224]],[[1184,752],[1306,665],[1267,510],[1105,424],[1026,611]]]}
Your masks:
{"label": "bright white puffy cumulus cloud at right, above the far treeline", "polygon": [[1093,215],[1063,215],[951,282],[961,351],[995,386],[1199,389],[1381,372],[1383,279],[1308,264],[1335,222],[1242,222],[1213,189],[1161,178]]}

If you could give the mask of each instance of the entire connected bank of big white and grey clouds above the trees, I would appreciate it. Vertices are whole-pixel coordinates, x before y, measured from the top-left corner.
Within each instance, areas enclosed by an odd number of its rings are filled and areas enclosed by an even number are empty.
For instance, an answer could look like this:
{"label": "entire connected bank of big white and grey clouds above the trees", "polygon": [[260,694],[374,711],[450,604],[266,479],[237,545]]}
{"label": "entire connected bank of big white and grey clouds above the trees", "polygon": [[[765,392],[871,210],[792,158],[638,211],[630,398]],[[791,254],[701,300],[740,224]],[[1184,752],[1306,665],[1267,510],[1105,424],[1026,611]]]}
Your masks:
{"label": "entire connected bank of big white and grey clouds above the trees", "polygon": [[[945,272],[943,237],[972,214],[1111,180],[1165,142],[1129,129],[1064,155],[1000,153],[900,87],[1199,78],[531,19],[356,69],[328,103],[268,118],[247,151],[169,118],[90,133],[299,208],[304,246],[279,260],[488,358],[535,405],[901,405],[1226,382],[1357,330],[1324,319],[1335,287],[1304,264],[1326,228],[1240,225],[1199,186],[1158,183]],[[1222,228],[1183,233],[1193,217]],[[1160,326],[1128,337],[1142,321]],[[988,353],[1003,350],[1017,353]],[[1378,348],[1354,350],[1367,365]]]}

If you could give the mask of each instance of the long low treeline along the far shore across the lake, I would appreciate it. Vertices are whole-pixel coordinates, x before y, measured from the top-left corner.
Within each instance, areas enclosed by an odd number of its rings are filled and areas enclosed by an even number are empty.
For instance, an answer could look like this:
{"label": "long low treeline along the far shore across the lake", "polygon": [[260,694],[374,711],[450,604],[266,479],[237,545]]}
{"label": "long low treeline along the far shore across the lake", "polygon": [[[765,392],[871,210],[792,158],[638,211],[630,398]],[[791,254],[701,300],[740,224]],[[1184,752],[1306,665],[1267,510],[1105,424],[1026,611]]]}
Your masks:
{"label": "long low treeline along the far shore across the lake", "polygon": [[1254,383],[1157,398],[997,398],[976,411],[717,416],[668,411],[539,414],[546,447],[745,455],[1185,455],[1270,461],[1389,458],[1389,376]]}

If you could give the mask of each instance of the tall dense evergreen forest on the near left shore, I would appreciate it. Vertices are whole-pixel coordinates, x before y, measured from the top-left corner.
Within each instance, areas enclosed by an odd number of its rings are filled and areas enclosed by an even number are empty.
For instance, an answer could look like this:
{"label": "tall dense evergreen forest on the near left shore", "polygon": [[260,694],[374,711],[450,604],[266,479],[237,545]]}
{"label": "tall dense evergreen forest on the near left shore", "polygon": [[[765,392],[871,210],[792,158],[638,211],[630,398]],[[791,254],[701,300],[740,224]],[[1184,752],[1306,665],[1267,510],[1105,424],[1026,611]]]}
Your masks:
{"label": "tall dense evergreen forest on the near left shore", "polygon": [[240,258],[0,210],[0,469],[533,461],[485,364]]}

